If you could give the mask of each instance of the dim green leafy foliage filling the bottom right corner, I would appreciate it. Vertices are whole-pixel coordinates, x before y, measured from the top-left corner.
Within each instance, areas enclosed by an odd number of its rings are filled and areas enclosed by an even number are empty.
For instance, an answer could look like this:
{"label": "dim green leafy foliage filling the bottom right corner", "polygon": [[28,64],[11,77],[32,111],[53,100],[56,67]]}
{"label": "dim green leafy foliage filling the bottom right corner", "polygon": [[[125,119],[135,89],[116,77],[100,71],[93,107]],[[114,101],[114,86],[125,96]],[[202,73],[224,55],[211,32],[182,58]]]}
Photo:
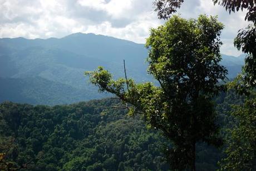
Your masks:
{"label": "dim green leafy foliage filling the bottom right corner", "polygon": [[244,105],[235,105],[232,115],[238,124],[229,129],[227,157],[222,160],[221,170],[256,169],[256,99],[247,98]]}

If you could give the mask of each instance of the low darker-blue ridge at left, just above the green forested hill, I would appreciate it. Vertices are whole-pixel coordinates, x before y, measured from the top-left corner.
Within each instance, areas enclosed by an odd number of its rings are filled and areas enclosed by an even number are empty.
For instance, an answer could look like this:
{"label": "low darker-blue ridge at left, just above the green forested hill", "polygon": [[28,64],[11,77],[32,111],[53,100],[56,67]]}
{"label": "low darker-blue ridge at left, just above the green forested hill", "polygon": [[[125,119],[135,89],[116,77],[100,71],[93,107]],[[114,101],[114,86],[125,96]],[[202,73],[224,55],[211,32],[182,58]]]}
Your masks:
{"label": "low darker-blue ridge at left, just above the green forested hill", "polygon": [[90,89],[75,88],[42,77],[0,78],[0,85],[0,102],[8,100],[29,104],[70,104],[107,95],[95,94]]}

